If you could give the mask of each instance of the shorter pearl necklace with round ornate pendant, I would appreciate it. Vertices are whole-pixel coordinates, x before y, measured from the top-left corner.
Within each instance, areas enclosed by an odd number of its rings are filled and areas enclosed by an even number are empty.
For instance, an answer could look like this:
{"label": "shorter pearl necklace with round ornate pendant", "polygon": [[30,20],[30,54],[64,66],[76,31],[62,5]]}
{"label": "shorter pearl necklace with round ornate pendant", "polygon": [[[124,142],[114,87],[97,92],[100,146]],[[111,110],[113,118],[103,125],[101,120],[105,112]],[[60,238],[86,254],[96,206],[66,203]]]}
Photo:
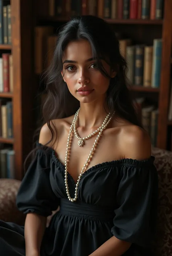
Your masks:
{"label": "shorter pearl necklace with round ornate pendant", "polygon": [[79,110],[80,110],[80,108],[78,109],[78,111],[75,114],[76,118],[74,121],[73,130],[74,130],[75,137],[77,137],[77,139],[78,139],[78,146],[83,147],[85,145],[85,140],[89,139],[92,136],[94,136],[95,134],[97,134],[103,128],[103,126],[107,123],[108,119],[110,118],[110,113],[107,115],[107,117],[105,118],[105,121],[102,123],[102,125],[97,130],[93,131],[93,133],[87,135],[86,137],[81,138],[77,132],[77,122],[78,122],[78,117],[79,117]]}

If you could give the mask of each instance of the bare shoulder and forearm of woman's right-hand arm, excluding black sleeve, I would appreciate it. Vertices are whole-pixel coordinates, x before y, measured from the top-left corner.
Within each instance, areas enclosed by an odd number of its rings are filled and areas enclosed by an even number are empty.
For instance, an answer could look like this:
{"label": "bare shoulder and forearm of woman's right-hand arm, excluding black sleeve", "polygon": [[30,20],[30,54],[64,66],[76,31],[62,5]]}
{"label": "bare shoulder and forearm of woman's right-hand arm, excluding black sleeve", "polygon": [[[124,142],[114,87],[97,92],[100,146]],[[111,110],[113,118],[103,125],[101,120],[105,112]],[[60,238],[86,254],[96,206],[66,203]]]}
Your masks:
{"label": "bare shoulder and forearm of woman's right-hand arm, excluding black sleeve", "polygon": [[[121,152],[124,158],[143,160],[151,156],[151,142],[148,134],[139,127],[125,130],[120,138]],[[119,240],[115,236],[108,239],[89,256],[121,256],[131,243]]]}

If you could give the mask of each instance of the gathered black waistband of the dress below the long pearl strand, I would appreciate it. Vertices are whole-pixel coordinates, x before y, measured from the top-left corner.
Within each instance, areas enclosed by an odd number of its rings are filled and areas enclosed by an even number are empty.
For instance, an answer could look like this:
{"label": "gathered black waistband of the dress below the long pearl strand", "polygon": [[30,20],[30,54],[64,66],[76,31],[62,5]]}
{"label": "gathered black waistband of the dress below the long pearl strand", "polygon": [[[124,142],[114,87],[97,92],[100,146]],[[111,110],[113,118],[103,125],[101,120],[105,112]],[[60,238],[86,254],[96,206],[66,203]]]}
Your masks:
{"label": "gathered black waistband of the dress below the long pearl strand", "polygon": [[76,202],[70,202],[68,199],[61,199],[60,212],[64,215],[73,215],[82,218],[101,220],[111,220],[115,215],[113,209],[108,207],[99,207],[92,204],[83,203],[79,200]]}

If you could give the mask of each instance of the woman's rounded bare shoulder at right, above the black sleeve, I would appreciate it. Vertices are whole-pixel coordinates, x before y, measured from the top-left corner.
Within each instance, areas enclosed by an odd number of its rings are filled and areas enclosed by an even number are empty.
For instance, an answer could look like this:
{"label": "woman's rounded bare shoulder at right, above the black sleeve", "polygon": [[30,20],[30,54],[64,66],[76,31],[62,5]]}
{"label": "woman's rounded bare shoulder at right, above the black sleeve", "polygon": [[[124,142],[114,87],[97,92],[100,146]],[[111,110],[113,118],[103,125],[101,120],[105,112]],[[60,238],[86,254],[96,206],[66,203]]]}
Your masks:
{"label": "woman's rounded bare shoulder at right, above the black sleeve", "polygon": [[151,139],[141,127],[124,125],[119,137],[124,158],[143,160],[151,157]]}

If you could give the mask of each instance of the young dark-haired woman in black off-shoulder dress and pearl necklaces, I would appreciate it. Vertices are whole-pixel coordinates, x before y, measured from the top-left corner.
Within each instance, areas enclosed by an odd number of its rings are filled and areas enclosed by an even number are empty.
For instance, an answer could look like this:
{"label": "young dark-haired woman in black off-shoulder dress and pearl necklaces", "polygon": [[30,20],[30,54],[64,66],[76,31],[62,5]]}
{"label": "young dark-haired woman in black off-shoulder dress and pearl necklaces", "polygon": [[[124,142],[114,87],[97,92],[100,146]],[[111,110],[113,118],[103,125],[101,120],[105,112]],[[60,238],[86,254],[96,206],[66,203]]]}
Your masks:
{"label": "young dark-haired woman in black off-shoulder dress and pearl necklaces", "polygon": [[47,90],[17,195],[25,227],[0,222],[1,256],[152,255],[157,172],[110,25],[81,16],[61,29]]}

